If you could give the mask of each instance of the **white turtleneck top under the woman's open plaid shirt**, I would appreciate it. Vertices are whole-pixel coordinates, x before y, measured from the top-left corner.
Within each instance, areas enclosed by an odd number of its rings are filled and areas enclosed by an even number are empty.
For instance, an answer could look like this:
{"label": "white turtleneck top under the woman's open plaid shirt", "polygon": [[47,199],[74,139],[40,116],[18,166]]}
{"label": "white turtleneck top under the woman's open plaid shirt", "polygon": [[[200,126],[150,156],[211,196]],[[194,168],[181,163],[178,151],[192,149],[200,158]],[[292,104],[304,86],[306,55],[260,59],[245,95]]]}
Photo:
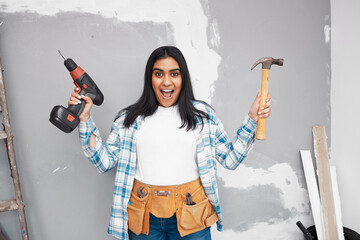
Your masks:
{"label": "white turtleneck top under the woman's open plaid shirt", "polygon": [[159,106],[137,133],[135,178],[151,185],[178,185],[199,177],[196,139],[181,126],[177,105]]}

